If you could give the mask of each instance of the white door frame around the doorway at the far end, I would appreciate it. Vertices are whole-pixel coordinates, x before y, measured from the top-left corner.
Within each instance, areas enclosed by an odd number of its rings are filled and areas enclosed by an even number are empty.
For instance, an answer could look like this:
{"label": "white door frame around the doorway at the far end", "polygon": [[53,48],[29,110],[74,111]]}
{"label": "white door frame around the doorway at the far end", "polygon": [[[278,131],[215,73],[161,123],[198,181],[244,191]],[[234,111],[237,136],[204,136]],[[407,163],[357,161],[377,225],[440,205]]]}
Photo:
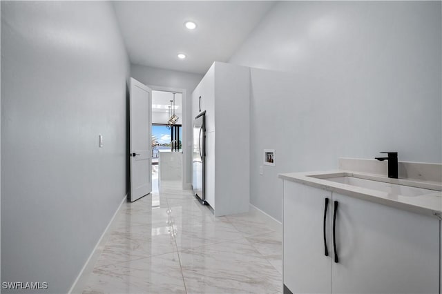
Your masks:
{"label": "white door frame around the doorway at the far end", "polygon": [[[188,107],[190,106],[190,104],[187,104],[187,95],[186,95],[186,89],[183,88],[173,88],[173,87],[164,87],[164,86],[154,86],[154,85],[146,85],[149,88],[151,88],[151,90],[153,91],[162,91],[162,92],[175,92],[175,93],[181,93],[181,98],[182,98],[182,141],[181,141],[181,146],[182,146],[182,170],[181,170],[181,184],[182,184],[182,188],[183,190],[189,190],[192,188],[192,184],[191,182],[187,182],[187,167],[189,166],[189,162],[191,159],[189,159],[189,147],[187,146],[187,142],[189,141],[189,130],[187,130],[187,128],[189,128],[189,126],[191,124],[188,124]],[[151,115],[152,115],[152,108],[151,108]]]}

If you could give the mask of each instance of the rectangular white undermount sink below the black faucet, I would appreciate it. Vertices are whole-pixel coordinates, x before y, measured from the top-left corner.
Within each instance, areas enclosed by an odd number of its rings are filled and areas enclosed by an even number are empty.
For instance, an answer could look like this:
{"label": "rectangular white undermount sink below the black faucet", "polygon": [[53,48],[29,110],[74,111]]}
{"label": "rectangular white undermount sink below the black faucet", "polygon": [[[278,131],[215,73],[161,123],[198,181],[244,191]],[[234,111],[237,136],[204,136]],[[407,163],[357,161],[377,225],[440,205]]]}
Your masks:
{"label": "rectangular white undermount sink below the black faucet", "polygon": [[[311,176],[315,177],[315,176]],[[324,179],[325,181],[336,182],[340,184],[347,184],[350,186],[356,186],[360,188],[367,188],[372,190],[378,190],[392,195],[402,195],[406,197],[414,197],[420,195],[426,195],[435,193],[436,190],[416,188],[412,186],[404,186],[399,184],[392,184],[387,182],[376,181],[372,179],[361,179],[352,176],[338,176],[338,177],[316,177],[318,179]]]}

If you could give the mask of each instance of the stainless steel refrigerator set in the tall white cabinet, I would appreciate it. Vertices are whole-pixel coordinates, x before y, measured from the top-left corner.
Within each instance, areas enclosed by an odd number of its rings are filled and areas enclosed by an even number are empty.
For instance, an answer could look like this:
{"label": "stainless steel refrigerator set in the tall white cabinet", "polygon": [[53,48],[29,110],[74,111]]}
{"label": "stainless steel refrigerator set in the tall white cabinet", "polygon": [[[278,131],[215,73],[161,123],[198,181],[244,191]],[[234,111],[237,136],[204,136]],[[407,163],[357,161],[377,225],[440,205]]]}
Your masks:
{"label": "stainless steel refrigerator set in the tall white cabinet", "polygon": [[193,121],[192,188],[195,197],[206,203],[206,111]]}

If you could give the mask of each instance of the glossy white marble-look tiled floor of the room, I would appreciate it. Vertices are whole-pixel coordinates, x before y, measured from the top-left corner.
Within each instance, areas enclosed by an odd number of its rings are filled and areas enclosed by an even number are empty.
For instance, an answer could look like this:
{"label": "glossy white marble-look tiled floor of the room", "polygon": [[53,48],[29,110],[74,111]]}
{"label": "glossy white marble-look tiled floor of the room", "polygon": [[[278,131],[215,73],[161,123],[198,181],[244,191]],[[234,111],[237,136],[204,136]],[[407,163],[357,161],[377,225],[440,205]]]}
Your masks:
{"label": "glossy white marble-look tiled floor of the room", "polygon": [[180,186],[122,205],[82,293],[282,293],[280,224],[214,217]]}

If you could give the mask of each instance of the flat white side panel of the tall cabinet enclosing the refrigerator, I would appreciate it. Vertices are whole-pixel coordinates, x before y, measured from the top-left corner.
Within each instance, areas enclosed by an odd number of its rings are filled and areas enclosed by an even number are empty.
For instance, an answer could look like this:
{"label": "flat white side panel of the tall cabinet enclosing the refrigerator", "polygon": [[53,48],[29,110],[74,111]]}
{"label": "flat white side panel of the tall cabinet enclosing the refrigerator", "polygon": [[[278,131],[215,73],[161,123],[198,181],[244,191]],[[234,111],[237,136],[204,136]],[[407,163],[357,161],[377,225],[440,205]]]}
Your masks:
{"label": "flat white side panel of the tall cabinet enclosing the refrigerator", "polygon": [[215,62],[215,216],[249,211],[250,69]]}

